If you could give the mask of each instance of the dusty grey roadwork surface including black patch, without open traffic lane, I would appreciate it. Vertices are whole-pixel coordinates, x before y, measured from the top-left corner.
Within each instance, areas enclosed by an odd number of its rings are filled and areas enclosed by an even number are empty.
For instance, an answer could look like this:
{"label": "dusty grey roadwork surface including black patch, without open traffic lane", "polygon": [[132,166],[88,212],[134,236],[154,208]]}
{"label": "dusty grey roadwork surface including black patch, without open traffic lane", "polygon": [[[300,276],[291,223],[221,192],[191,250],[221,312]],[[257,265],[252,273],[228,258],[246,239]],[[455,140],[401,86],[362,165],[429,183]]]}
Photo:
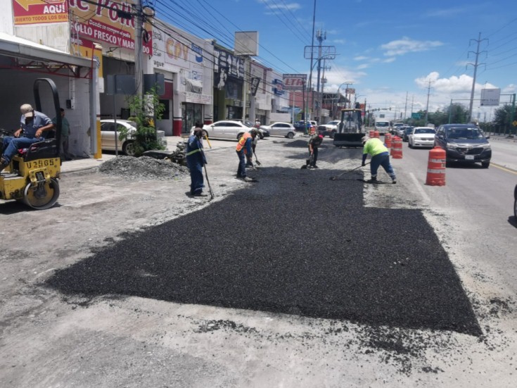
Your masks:
{"label": "dusty grey roadwork surface including black patch, without open traffic lane", "polygon": [[513,295],[468,209],[437,206],[454,191],[409,154],[397,184],[331,181],[361,151],[326,139],[300,170],[305,142],[260,142],[248,184],[212,141],[214,201],[87,171],[48,211],[0,204],[23,224],[1,232],[0,386],[512,387]]}

